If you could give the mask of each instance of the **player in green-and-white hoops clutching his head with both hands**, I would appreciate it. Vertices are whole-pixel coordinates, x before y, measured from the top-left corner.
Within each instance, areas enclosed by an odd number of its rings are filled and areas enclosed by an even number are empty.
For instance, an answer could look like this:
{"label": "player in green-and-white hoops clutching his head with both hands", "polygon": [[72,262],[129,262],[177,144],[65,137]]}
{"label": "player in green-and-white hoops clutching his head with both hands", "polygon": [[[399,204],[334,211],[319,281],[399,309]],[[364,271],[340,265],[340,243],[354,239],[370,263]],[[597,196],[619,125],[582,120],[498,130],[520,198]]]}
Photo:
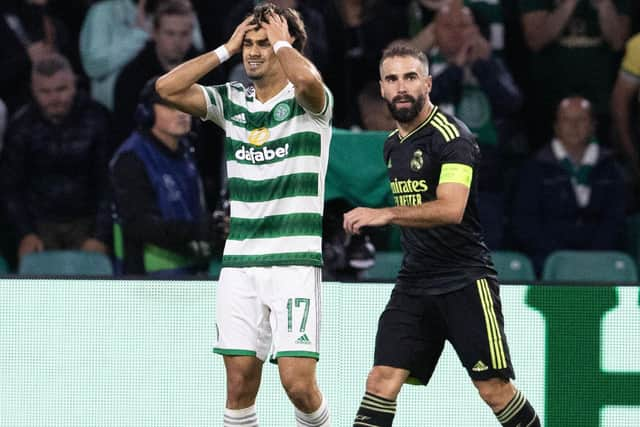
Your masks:
{"label": "player in green-and-white hoops clutching his head with both hands", "polygon": [[[227,43],[156,84],[176,108],[225,130],[231,225],[216,302],[227,373],[225,426],[257,426],[264,360],[277,360],[296,425],[329,426],[316,381],[324,176],[332,96],[300,52],[304,24],[292,9],[254,8]],[[253,85],[197,81],[241,53]]]}

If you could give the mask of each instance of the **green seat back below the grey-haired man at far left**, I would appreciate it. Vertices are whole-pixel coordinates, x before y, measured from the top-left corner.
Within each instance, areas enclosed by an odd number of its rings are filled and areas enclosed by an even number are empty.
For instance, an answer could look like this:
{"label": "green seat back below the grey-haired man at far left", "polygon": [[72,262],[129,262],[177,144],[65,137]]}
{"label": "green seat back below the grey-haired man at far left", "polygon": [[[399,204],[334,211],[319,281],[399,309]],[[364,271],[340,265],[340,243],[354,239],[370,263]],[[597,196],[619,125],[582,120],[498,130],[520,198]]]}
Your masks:
{"label": "green seat back below the grey-haired man at far left", "polygon": [[113,265],[109,257],[98,252],[44,251],[22,257],[18,273],[34,276],[112,276]]}

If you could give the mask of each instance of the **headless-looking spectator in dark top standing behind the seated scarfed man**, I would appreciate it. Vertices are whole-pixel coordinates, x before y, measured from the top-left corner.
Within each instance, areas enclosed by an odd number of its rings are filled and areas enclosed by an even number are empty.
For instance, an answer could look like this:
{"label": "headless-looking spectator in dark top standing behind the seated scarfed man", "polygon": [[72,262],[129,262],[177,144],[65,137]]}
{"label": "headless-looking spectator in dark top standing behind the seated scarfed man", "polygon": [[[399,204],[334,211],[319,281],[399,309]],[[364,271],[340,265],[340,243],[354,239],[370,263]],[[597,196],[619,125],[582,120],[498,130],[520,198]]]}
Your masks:
{"label": "headless-looking spectator in dark top standing behind the seated scarfed man", "polygon": [[589,99],[598,139],[609,142],[609,102],[617,56],[631,34],[627,0],[520,0],[522,28],[531,50],[527,94],[532,142],[551,137],[554,108],[575,93]]}

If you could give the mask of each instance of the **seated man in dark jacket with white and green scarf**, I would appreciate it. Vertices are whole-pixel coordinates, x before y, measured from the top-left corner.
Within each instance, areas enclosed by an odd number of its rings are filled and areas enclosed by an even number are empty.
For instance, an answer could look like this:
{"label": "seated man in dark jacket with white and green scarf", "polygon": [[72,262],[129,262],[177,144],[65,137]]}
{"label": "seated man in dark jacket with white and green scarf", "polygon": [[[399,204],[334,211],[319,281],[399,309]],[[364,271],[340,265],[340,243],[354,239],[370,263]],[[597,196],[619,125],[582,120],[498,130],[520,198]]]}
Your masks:
{"label": "seated man in dark jacket with white and green scarf", "polygon": [[555,138],[521,171],[513,233],[538,271],[555,250],[620,249],[626,208],[622,170],[594,131],[589,101],[565,98],[558,106]]}

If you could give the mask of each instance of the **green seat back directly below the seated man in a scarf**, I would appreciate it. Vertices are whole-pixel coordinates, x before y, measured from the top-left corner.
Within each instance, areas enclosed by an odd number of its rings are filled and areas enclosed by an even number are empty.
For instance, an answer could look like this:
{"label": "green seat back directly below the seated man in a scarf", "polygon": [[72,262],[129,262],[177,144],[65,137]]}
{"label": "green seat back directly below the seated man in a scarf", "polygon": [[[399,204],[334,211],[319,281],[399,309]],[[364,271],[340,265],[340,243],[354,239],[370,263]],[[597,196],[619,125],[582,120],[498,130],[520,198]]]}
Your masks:
{"label": "green seat back directly below the seated man in a scarf", "polygon": [[636,282],[633,259],[618,251],[556,251],[547,257],[542,280]]}

